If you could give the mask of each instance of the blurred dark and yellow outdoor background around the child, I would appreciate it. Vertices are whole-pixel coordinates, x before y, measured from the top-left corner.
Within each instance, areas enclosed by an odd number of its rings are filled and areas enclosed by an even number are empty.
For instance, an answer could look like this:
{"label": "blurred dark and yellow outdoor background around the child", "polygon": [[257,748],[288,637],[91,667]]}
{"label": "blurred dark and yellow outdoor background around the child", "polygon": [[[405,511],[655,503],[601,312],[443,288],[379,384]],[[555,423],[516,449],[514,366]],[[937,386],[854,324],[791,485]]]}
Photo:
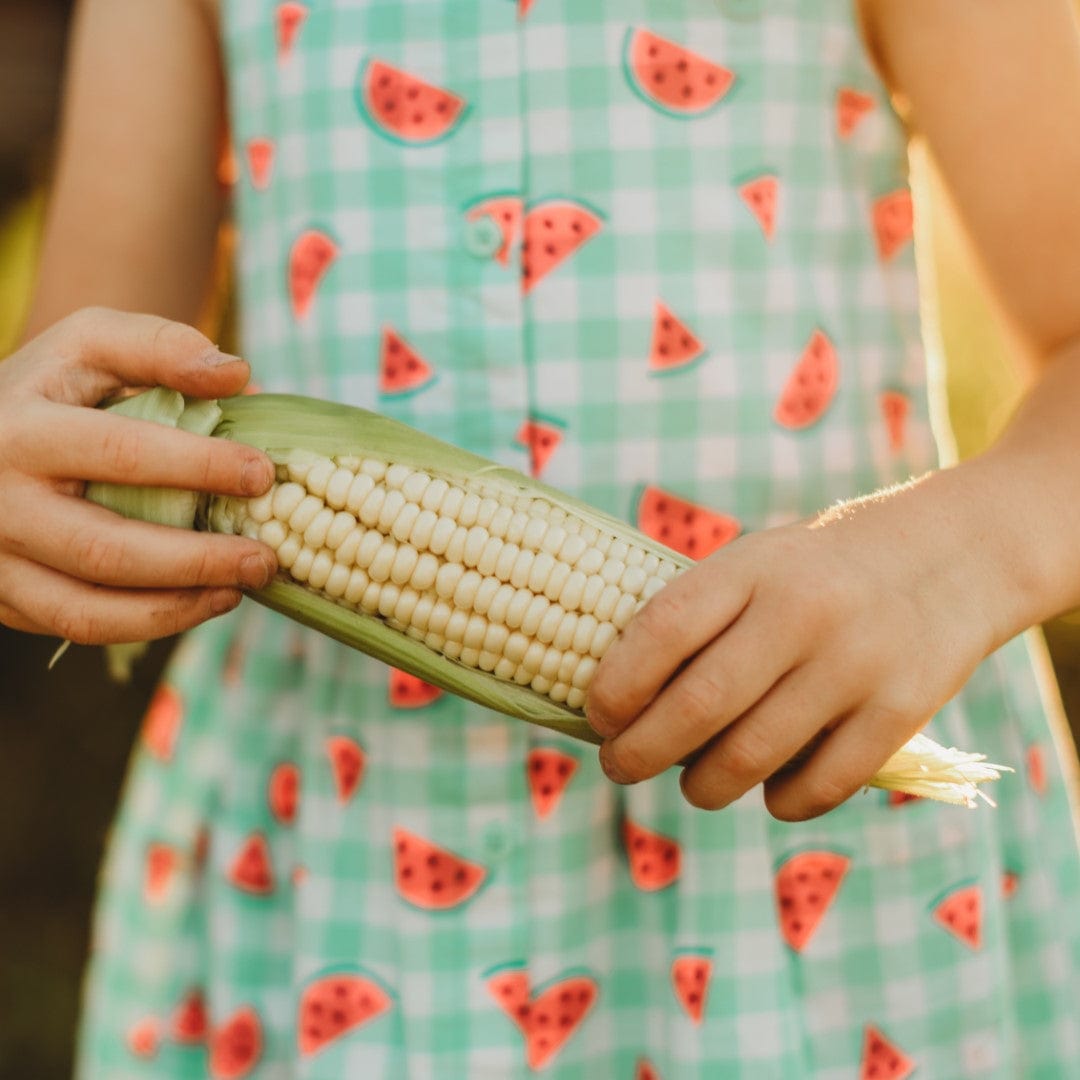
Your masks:
{"label": "blurred dark and yellow outdoor background around the child", "polygon": [[[32,284],[70,6],[0,0],[0,357]],[[939,332],[931,345],[944,357],[963,456],[1008,418],[1020,377],[933,177],[915,164]],[[1076,732],[1080,616],[1045,634]],[[49,674],[56,644],[0,627],[0,1080],[70,1076],[97,865],[132,739],[174,643],[157,644],[126,685],[108,678],[98,649],[71,649]]]}

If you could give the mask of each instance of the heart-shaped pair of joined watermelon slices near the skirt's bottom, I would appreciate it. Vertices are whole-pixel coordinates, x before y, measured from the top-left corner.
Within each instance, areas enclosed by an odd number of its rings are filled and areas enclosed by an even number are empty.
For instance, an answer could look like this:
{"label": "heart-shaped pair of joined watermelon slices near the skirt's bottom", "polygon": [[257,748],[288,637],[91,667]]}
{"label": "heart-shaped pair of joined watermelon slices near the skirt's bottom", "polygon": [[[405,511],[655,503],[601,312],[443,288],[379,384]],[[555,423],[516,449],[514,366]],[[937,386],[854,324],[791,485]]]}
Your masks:
{"label": "heart-shaped pair of joined watermelon slices near the skirt's bottom", "polygon": [[525,1036],[525,1061],[530,1069],[545,1068],[554,1061],[598,997],[596,980],[590,975],[561,978],[534,996],[523,970],[498,972],[487,988]]}

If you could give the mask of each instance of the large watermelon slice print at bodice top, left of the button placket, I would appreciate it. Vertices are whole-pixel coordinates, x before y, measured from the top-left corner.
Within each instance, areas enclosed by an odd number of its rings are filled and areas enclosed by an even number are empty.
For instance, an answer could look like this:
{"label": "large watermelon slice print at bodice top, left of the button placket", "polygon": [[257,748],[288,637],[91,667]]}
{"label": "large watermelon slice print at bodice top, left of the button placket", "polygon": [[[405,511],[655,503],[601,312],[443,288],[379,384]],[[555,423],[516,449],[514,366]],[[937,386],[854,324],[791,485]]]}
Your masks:
{"label": "large watermelon slice print at bodice top, left of the button placket", "polygon": [[446,138],[468,111],[457,94],[379,59],[367,60],[360,70],[357,104],[375,131],[407,146],[430,146]]}

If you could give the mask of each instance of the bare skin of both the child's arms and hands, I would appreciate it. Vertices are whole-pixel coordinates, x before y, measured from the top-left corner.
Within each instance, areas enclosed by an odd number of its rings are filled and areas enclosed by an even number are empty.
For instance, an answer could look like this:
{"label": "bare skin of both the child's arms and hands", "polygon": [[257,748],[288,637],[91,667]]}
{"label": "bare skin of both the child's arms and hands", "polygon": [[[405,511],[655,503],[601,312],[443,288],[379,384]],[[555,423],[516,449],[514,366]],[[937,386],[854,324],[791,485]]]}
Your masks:
{"label": "bare skin of both the child's arms and hands", "polygon": [[[764,784],[778,818],[829,810],[989,651],[1080,605],[1074,11],[1069,0],[864,0],[860,10],[1031,388],[981,457],[737,540],[626,629],[590,697],[602,764],[635,782],[692,758],[683,789],[706,809]],[[219,212],[218,64],[208,0],[82,4],[28,329],[39,336],[0,365],[0,621],[11,626],[80,642],[156,637],[233,605],[272,568],[257,543],[166,536],[76,498],[86,480],[235,494],[270,482],[254,451],[84,407],[122,386],[217,396],[247,378],[242,361],[220,363],[177,325],[197,319]],[[154,315],[62,321],[89,305]]]}

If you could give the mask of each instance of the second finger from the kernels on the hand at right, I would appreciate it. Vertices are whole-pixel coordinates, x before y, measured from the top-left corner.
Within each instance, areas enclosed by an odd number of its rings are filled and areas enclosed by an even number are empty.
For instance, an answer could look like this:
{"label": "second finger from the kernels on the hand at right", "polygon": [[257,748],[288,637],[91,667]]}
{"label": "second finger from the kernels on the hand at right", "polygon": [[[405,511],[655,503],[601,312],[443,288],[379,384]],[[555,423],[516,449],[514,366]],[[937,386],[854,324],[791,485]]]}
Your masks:
{"label": "second finger from the kernels on the hand at right", "polygon": [[603,745],[604,771],[617,783],[636,783],[693,754],[792,669],[792,642],[777,640],[770,620],[738,620]]}

